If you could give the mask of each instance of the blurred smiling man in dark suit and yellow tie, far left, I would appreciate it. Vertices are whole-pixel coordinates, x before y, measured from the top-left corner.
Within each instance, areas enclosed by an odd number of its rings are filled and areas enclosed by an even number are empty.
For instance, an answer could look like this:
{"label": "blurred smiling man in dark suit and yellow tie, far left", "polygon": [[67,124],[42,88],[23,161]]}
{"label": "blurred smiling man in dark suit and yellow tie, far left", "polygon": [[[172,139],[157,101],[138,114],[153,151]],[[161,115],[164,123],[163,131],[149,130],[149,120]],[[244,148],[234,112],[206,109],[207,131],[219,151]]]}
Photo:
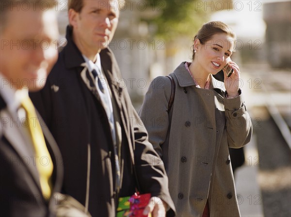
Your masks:
{"label": "blurred smiling man in dark suit and yellow tie, far left", "polygon": [[28,92],[44,86],[57,60],[56,2],[0,3],[0,216],[45,217],[62,184],[60,152],[47,147],[45,137],[52,137]]}

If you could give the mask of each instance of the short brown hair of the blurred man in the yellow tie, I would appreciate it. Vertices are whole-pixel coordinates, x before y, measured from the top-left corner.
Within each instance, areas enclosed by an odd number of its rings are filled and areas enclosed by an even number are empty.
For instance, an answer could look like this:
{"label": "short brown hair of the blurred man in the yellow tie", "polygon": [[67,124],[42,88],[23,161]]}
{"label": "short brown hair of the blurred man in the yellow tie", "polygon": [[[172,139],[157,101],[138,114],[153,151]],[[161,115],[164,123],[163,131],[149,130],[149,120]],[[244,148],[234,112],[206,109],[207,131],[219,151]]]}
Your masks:
{"label": "short brown hair of the blurred man in the yellow tie", "polygon": [[0,31],[3,31],[7,23],[7,14],[12,10],[48,11],[57,8],[56,0],[0,0]]}

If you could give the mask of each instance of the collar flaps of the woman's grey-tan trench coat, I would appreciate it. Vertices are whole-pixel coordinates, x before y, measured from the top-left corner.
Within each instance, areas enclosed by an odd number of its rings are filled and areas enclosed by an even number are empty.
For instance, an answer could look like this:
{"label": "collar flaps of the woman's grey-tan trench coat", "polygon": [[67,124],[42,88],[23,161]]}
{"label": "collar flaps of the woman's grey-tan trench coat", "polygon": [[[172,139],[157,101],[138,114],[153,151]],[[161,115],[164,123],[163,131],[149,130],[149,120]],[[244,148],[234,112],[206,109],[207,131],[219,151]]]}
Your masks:
{"label": "collar flaps of the woman's grey-tan trench coat", "polygon": [[[175,70],[174,75],[176,75],[178,84],[180,87],[195,86],[195,82],[189,74],[188,70],[184,66],[185,62],[182,62]],[[211,84],[210,89],[221,89],[225,91],[224,82],[215,79],[210,75]]]}

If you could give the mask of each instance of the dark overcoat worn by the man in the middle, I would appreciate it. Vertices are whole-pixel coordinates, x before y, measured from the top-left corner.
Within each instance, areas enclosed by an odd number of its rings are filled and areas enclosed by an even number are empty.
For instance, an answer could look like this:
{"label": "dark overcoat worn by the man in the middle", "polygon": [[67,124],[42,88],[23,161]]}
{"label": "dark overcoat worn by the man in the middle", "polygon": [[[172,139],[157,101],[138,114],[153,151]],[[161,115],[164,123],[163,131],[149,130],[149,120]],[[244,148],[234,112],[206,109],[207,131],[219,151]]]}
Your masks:
{"label": "dark overcoat worn by the man in the middle", "polygon": [[148,142],[146,128],[139,123],[127,89],[118,86],[122,77],[112,51],[106,48],[100,52],[101,66],[121,118],[121,182],[120,191],[116,192],[110,125],[99,96],[91,92],[81,78],[85,61],[71,34],[68,28],[67,45],[60,53],[46,86],[39,93],[31,94],[33,103],[44,117],[63,155],[64,193],[85,205],[89,186],[87,196],[91,215],[115,216],[116,199],[132,195],[137,186],[131,163],[133,158],[139,190],[152,196],[161,196],[171,207],[169,213],[173,214],[175,208],[169,195],[164,167],[152,163],[152,159],[158,155]]}

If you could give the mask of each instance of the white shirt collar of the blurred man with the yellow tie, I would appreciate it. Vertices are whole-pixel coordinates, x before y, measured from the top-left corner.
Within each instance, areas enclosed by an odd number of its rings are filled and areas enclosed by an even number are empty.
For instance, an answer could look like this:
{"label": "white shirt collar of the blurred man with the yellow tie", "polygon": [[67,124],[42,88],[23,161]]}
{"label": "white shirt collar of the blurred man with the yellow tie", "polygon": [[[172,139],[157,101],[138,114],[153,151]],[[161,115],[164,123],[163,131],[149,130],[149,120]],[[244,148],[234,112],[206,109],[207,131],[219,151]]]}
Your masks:
{"label": "white shirt collar of the blurred man with the yellow tie", "polygon": [[12,84],[9,82],[8,78],[5,78],[0,73],[0,90],[1,96],[7,104],[7,108],[15,112],[19,108],[22,99],[28,97],[28,88],[16,90],[12,87]]}

